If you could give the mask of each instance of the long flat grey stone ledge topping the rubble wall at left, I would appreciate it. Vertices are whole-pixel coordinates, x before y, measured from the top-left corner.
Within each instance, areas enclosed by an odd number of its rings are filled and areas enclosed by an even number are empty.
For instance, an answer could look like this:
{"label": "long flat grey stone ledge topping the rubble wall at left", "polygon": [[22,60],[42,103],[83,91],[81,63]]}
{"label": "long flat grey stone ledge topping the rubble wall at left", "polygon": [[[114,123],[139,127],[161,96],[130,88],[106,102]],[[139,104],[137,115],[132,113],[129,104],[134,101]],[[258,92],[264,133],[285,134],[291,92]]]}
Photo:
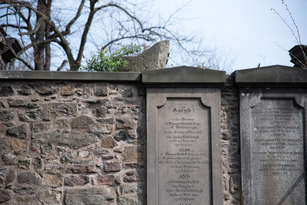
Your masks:
{"label": "long flat grey stone ledge topping the rubble wall at left", "polygon": [[0,79],[141,82],[140,72],[0,71]]}

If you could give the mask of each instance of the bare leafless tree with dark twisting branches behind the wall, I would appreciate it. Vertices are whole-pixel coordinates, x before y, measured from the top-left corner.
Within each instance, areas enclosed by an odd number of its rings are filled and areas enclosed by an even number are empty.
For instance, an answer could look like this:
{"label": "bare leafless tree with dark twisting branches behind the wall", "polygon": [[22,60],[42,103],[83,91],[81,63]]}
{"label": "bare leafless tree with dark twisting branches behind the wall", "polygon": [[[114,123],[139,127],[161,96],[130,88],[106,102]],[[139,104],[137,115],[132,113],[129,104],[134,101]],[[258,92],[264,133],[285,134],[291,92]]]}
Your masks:
{"label": "bare leafless tree with dark twisting branches behind the wall", "polygon": [[[150,45],[170,40],[175,42],[172,55],[181,55],[190,65],[197,64],[200,58],[208,63],[214,58],[219,59],[212,55],[215,48],[201,45],[203,41],[197,38],[197,33],[188,34],[181,30],[182,18],[177,14],[186,4],[167,19],[153,14],[150,2],[0,0],[0,6],[1,26],[11,36],[18,33],[23,49],[17,60],[30,70],[50,70],[52,58],[60,56],[63,63],[57,70],[69,62],[70,70],[76,71],[84,52],[97,51],[101,46],[111,49],[122,41],[123,44]],[[191,44],[199,47],[188,49]],[[13,63],[10,69],[13,69]]]}

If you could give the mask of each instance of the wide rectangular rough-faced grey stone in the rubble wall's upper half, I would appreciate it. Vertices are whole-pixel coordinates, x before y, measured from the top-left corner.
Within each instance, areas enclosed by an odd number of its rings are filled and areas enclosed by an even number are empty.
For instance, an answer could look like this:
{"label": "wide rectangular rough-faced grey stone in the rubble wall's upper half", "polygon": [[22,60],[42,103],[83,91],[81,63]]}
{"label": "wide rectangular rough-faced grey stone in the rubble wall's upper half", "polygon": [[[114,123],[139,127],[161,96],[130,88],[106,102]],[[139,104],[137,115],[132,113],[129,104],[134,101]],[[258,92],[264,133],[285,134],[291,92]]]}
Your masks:
{"label": "wide rectangular rough-faced grey stone in the rubble wall's upper half", "polygon": [[63,115],[76,115],[77,104],[76,103],[48,103],[46,104],[47,116],[63,116]]}

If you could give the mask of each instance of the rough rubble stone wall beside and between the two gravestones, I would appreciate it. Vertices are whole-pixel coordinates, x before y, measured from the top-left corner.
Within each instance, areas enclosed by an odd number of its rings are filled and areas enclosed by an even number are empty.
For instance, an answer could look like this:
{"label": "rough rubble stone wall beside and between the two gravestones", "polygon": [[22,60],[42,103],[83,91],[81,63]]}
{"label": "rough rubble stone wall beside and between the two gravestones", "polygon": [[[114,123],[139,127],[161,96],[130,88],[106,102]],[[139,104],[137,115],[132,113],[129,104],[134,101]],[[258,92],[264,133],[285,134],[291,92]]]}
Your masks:
{"label": "rough rubble stone wall beside and between the two gravestones", "polygon": [[[15,76],[31,80],[0,76],[0,203],[146,204],[140,80]],[[231,75],[221,110],[224,205],[240,204],[239,100]]]}

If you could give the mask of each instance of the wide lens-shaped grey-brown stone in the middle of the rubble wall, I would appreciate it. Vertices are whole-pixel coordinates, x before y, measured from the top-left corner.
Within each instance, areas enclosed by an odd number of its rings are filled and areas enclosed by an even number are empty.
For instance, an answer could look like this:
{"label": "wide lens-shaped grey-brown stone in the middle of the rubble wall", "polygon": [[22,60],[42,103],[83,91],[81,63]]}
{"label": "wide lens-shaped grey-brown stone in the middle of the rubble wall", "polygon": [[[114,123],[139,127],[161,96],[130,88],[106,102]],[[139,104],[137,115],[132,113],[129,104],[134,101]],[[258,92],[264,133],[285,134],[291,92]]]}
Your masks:
{"label": "wide lens-shaped grey-brown stone in the middle of the rubble wall", "polygon": [[91,145],[98,142],[98,138],[95,135],[88,133],[71,133],[60,139],[60,144],[68,145],[71,148],[78,149],[80,147]]}

